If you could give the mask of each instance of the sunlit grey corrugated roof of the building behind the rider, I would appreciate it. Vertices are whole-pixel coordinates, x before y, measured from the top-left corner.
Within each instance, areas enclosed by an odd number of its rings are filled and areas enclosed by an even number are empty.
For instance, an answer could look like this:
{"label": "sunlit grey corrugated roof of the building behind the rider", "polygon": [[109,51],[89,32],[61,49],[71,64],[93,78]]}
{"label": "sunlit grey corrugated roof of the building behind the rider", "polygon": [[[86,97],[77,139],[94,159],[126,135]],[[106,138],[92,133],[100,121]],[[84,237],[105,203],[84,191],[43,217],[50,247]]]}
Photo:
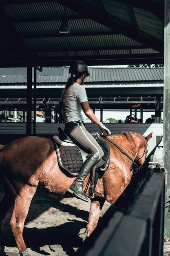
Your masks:
{"label": "sunlit grey corrugated roof of the building behind the rider", "polygon": [[[89,72],[90,76],[87,77],[86,84],[163,81],[163,68],[89,67]],[[68,77],[69,67],[43,67],[42,72],[37,71],[37,83],[63,84]],[[16,83],[27,83],[26,68],[0,68],[0,85]]]}

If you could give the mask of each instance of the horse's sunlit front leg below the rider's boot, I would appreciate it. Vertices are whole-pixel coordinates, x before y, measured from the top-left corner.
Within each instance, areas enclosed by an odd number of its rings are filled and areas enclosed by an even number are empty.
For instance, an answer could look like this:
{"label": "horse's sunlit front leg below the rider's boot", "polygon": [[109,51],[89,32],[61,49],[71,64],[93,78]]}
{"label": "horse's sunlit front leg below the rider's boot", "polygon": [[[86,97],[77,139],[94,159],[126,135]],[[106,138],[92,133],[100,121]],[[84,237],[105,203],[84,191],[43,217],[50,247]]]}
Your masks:
{"label": "horse's sunlit front leg below the rider's boot", "polygon": [[91,201],[91,208],[90,208],[90,213],[88,216],[88,224],[87,224],[87,238],[92,234],[92,232],[97,227],[97,223],[98,223],[104,202],[105,202],[104,198],[97,198]]}

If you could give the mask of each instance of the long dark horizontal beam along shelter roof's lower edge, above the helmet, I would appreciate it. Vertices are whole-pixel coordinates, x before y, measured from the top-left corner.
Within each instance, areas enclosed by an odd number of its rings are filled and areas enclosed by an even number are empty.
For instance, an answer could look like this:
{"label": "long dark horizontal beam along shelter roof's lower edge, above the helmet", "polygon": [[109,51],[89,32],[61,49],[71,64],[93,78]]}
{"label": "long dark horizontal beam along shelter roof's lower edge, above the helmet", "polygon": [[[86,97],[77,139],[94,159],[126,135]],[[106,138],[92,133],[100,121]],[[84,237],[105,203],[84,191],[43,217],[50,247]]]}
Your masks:
{"label": "long dark horizontal beam along shelter roof's lower edge, above the helmet", "polygon": [[[137,65],[137,64],[162,64],[163,54],[126,54],[126,55],[105,55],[105,56],[65,56],[58,60],[53,58],[36,58],[35,66],[69,66],[73,61],[83,59],[87,65]],[[0,67],[26,67],[30,63],[23,58],[10,59],[0,58]]]}

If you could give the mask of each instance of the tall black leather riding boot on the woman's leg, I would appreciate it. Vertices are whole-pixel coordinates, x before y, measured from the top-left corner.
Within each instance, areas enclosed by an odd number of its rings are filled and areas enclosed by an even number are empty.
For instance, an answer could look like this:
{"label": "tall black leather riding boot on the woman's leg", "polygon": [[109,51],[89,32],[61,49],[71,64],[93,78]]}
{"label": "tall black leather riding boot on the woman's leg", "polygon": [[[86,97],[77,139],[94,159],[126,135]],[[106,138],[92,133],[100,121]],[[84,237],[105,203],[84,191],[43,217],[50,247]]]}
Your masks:
{"label": "tall black leather riding boot on the woman's leg", "polygon": [[78,198],[86,202],[88,202],[88,198],[86,197],[86,195],[84,195],[83,183],[88,173],[90,173],[90,171],[97,164],[98,161],[99,153],[97,151],[91,153],[91,155],[86,159],[86,161],[80,168],[77,178],[68,189],[69,192],[71,192],[72,194],[74,193]]}

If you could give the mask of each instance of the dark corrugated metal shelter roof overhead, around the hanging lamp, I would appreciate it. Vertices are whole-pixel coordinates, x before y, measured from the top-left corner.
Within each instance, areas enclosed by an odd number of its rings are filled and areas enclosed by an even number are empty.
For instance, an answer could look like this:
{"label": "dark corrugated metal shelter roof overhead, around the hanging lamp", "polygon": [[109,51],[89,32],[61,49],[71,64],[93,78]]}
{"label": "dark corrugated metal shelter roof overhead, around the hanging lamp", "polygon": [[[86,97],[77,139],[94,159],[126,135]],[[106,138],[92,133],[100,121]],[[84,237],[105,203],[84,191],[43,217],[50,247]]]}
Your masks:
{"label": "dark corrugated metal shelter roof overhead, around the hanging lamp", "polygon": [[0,67],[161,64],[164,1],[1,0],[0,31]]}

